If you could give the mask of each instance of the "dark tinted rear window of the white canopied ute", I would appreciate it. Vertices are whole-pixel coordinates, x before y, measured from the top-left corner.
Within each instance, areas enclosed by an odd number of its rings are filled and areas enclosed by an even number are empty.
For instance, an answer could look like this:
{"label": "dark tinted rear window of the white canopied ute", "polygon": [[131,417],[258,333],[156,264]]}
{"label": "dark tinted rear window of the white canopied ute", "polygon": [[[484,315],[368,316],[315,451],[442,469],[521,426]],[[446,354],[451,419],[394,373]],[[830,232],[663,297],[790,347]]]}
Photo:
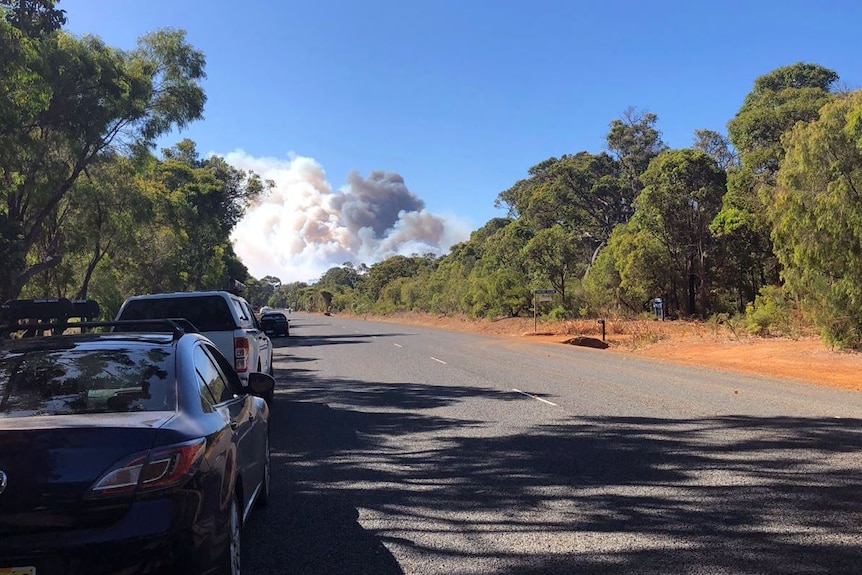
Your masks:
{"label": "dark tinted rear window of the white canopied ute", "polygon": [[126,302],[118,319],[163,318],[185,318],[200,331],[224,331],[236,328],[231,309],[225,298],[219,295],[130,300]]}

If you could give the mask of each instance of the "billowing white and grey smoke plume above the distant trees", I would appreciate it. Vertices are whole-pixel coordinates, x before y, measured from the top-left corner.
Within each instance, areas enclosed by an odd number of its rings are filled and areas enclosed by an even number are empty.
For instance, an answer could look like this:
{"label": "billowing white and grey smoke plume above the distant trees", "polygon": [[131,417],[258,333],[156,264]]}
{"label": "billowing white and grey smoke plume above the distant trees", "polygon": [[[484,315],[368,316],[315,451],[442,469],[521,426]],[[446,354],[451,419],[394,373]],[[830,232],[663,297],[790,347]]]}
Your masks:
{"label": "billowing white and grey smoke plume above the distant trees", "polygon": [[312,158],[255,158],[242,150],[224,157],[275,182],[232,235],[234,250],[256,278],[313,282],[345,262],[370,266],[394,255],[441,255],[470,234],[465,221],[428,212],[396,173],[351,173],[333,191]]}

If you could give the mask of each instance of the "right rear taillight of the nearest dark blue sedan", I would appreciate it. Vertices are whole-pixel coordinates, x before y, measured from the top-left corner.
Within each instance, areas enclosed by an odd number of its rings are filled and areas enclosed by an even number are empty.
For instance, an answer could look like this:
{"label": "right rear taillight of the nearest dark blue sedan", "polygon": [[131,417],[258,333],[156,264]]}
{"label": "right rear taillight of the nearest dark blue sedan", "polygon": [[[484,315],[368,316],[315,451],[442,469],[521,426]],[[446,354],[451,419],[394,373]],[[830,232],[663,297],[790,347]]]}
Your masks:
{"label": "right rear taillight of the nearest dark blue sedan", "polygon": [[93,484],[87,497],[115,497],[181,485],[200,467],[206,443],[202,437],[121,459]]}

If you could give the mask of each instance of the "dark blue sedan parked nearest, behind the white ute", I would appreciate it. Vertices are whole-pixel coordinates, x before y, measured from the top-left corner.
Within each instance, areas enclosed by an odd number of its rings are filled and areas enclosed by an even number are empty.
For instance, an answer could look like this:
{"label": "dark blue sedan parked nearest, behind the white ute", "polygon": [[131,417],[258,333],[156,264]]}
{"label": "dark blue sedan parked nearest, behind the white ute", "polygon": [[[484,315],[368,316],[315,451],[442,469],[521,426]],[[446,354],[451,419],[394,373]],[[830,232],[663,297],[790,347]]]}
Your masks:
{"label": "dark blue sedan parked nearest, behind the white ute", "polygon": [[274,381],[244,388],[212,342],[151,323],[3,330],[0,573],[239,572]]}

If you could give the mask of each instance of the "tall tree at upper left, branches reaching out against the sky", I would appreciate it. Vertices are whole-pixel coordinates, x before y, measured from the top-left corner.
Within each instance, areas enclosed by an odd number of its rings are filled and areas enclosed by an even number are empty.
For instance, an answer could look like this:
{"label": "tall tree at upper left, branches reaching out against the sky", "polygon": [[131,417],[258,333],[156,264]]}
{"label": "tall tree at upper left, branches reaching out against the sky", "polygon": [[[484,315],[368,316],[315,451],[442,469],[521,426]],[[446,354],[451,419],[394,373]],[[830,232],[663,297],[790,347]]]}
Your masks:
{"label": "tall tree at upper left, branches reaching out against the sky", "polygon": [[[46,241],[78,178],[101,155],[152,145],[202,116],[204,55],[180,30],[118,50],[60,29],[55,3],[0,5],[0,298],[59,265]],[[47,236],[46,236],[47,234]],[[34,252],[37,242],[47,249]]]}

